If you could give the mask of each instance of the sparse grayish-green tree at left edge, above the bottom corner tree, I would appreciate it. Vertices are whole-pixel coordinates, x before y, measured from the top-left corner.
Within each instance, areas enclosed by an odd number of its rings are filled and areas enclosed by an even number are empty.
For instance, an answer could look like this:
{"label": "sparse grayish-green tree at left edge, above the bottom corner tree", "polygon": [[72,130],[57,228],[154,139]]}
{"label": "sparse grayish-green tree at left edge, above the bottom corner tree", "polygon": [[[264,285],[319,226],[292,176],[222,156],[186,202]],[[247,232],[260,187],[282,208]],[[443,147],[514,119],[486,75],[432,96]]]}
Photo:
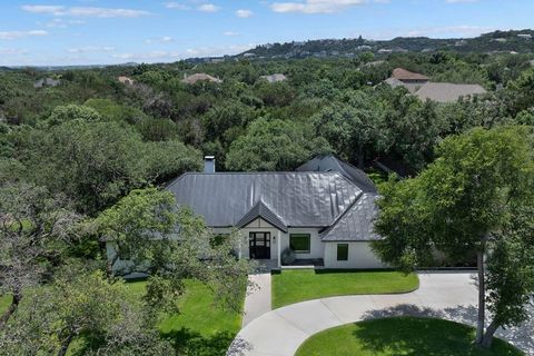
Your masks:
{"label": "sparse grayish-green tree at left edge, above the bottom corner tree", "polygon": [[42,187],[23,182],[0,187],[0,295],[11,295],[0,329],[17,312],[24,289],[61,260],[80,220],[69,207],[65,196]]}

